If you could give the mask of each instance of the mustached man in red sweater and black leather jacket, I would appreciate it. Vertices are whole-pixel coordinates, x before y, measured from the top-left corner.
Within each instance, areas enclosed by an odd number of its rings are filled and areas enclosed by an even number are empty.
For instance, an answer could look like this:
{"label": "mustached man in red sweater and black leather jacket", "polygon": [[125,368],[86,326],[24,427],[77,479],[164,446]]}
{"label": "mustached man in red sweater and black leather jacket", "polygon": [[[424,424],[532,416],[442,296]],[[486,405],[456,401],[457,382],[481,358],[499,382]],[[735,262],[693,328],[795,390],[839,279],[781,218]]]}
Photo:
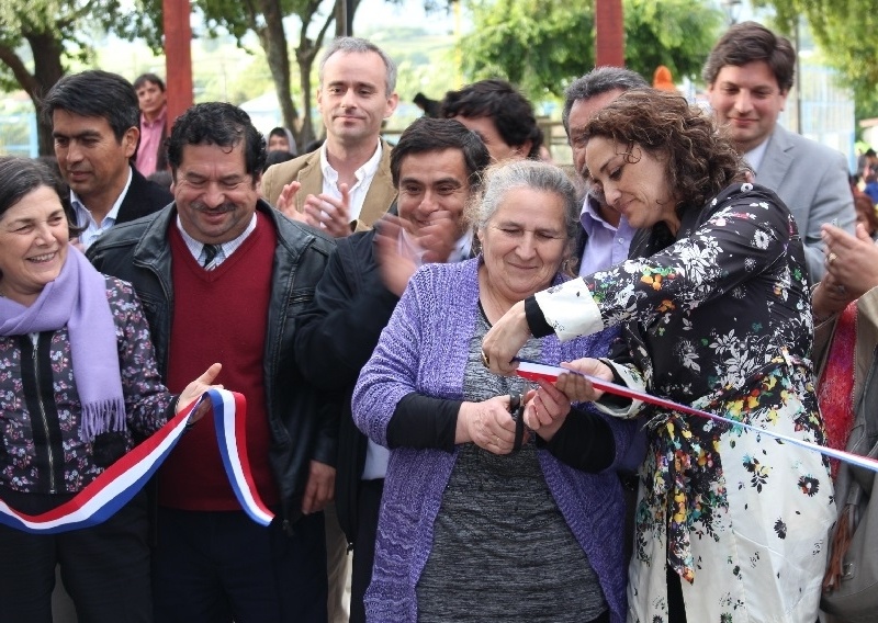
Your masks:
{"label": "mustached man in red sweater and black leather jacket", "polygon": [[[297,316],[333,250],[319,231],[259,199],[264,139],[225,103],[192,106],[173,125],[175,203],[120,226],[90,252],[134,284],[167,385],[203,361],[247,399],[252,480],[277,517],[249,519],[228,484],[213,418],[183,437],[158,474],[153,556],[156,621],[326,621],[323,513],[335,439],[293,362]],[[203,367],[203,366],[202,366]]]}

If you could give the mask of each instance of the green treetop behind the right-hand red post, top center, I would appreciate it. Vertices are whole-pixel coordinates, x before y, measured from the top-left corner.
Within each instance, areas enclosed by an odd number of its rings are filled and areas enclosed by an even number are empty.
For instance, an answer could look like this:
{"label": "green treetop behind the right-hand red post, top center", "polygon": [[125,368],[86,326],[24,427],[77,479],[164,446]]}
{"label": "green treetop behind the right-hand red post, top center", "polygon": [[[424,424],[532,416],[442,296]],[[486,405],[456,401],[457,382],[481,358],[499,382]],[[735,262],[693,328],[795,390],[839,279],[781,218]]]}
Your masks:
{"label": "green treetop behind the right-hand red post, top center", "polygon": [[[473,0],[473,33],[460,43],[469,80],[502,76],[534,101],[561,97],[595,65],[594,3]],[[624,0],[626,65],[646,79],[658,65],[695,78],[723,13],[691,0]]]}

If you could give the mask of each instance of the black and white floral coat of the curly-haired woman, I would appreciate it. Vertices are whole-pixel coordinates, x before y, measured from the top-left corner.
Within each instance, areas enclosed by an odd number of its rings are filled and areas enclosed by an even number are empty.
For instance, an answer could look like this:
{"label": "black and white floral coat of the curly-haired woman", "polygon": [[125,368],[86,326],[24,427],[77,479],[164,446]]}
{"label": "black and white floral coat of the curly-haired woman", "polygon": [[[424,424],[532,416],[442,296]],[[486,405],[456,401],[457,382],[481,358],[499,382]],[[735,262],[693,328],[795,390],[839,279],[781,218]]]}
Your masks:
{"label": "black and white floral coat of the curly-haired woman", "polygon": [[[624,353],[607,362],[629,385],[823,443],[804,254],[777,196],[735,184],[685,214],[675,239],[641,234],[661,250],[537,295],[559,336],[622,325]],[[650,444],[628,620],[668,620],[667,565],[690,622],[817,621],[835,517],[823,457],[637,401],[615,415],[642,418]]]}

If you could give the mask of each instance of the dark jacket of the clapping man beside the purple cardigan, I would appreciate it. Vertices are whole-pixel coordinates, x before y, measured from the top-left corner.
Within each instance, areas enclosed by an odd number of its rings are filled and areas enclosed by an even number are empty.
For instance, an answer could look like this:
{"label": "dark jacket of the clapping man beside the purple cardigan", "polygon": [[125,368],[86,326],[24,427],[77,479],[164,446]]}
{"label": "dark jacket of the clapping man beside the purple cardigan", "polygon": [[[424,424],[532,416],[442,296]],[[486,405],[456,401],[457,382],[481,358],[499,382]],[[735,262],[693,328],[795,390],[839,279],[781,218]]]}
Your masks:
{"label": "dark jacket of the clapping man beside the purple cardigan", "polygon": [[381,280],[375,261],[376,231],[338,240],[314,301],[301,316],[295,359],[302,374],[341,401],[336,464],[336,508],[348,542],[357,534],[357,496],[367,438],[353,424],[353,386],[390,321],[398,297]]}

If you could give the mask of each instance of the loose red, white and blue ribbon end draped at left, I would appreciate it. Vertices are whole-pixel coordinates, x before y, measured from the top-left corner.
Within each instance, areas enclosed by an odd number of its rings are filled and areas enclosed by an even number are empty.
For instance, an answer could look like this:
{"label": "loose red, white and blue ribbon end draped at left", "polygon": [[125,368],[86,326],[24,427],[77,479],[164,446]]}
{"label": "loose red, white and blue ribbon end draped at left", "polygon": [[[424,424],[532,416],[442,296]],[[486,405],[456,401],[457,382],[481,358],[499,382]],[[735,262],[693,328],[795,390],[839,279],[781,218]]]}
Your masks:
{"label": "loose red, white and blue ribbon end draped at left", "polygon": [[104,469],[85,489],[50,511],[29,516],[0,500],[0,523],[32,534],[58,534],[106,521],[128,503],[155,474],[180,441],[192,414],[204,399],[213,404],[219,454],[238,502],[250,519],[268,525],[274,516],[256,490],[247,460],[244,422],[247,403],[240,394],[226,389],[205,392],[188,409],[180,411],[155,434]]}

